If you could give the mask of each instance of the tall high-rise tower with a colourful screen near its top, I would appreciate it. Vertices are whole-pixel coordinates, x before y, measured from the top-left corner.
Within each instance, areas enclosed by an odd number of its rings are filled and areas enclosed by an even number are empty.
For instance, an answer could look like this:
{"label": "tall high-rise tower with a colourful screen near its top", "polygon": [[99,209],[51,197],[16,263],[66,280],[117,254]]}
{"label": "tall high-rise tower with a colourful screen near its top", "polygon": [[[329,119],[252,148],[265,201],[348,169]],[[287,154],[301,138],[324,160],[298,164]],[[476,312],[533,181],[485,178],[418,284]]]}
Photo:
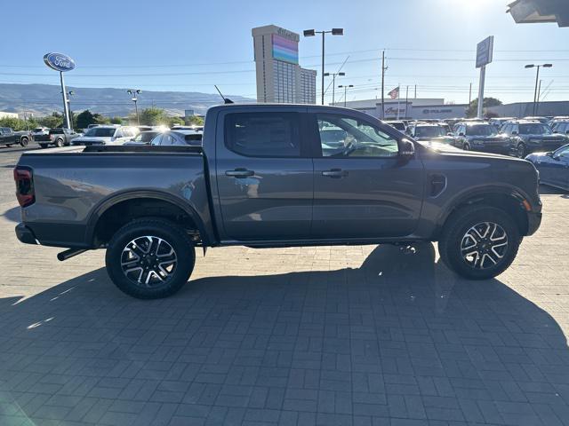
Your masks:
{"label": "tall high-rise tower with a colourful screen near its top", "polygon": [[317,72],[299,65],[300,39],[275,25],[252,28],[257,102],[316,103]]}

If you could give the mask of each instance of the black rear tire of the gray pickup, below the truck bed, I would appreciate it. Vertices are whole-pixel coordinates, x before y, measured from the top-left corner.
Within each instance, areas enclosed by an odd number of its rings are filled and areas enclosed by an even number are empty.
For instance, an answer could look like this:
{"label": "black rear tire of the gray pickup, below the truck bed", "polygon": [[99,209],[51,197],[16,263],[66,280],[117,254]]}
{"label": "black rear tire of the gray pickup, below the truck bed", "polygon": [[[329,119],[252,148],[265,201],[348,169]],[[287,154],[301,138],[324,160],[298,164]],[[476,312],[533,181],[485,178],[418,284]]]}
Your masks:
{"label": "black rear tire of the gray pickup, below the truck bed", "polygon": [[[162,246],[158,245],[158,250],[164,250],[165,242],[166,250],[168,250],[168,246],[172,248],[173,256],[176,259],[170,275],[165,276],[164,280],[160,279],[162,282],[158,281],[156,285],[155,283],[144,284],[140,282],[141,280],[148,282],[151,278],[156,278],[154,270],[160,260],[157,257],[164,256],[164,254],[158,255],[156,244],[149,247],[144,246],[144,241],[149,241],[149,236],[162,241]],[[137,247],[138,242],[132,244],[133,241],[142,241],[142,243]],[[152,251],[153,247],[156,253]],[[136,248],[136,250],[132,248]],[[148,251],[145,251],[147,249]],[[139,253],[141,256],[138,256],[136,253]],[[143,253],[146,253],[146,255],[143,255]],[[136,256],[138,259],[134,258],[134,260],[131,260],[132,256]],[[142,257],[148,257],[148,259]],[[115,233],[108,244],[105,263],[108,276],[115,283],[116,287],[120,288],[124,293],[139,299],[159,299],[172,296],[188,282],[196,263],[196,252],[194,244],[188,238],[188,234],[179,226],[160,218],[142,218],[133,220]],[[124,263],[126,265],[123,268]],[[144,265],[146,265],[146,269],[148,269],[149,265],[150,271],[145,272]],[[169,266],[164,268],[167,267]],[[132,268],[135,270],[128,272]],[[124,269],[128,273],[124,272]],[[164,269],[160,268],[156,268],[156,271],[161,274],[165,272]],[[137,274],[139,275],[138,279]]]}

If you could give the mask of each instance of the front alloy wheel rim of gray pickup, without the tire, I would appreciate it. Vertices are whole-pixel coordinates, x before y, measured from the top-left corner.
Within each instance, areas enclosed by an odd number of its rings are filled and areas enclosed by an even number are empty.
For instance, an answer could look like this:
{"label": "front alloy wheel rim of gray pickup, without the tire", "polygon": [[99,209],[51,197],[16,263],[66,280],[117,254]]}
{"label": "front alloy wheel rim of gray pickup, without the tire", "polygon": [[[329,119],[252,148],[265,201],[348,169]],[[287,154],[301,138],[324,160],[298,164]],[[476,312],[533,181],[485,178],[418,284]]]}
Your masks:
{"label": "front alloy wheel rim of gray pickup, without the tire", "polygon": [[474,269],[487,269],[499,264],[508,251],[508,234],[501,225],[481,222],[462,237],[462,259]]}

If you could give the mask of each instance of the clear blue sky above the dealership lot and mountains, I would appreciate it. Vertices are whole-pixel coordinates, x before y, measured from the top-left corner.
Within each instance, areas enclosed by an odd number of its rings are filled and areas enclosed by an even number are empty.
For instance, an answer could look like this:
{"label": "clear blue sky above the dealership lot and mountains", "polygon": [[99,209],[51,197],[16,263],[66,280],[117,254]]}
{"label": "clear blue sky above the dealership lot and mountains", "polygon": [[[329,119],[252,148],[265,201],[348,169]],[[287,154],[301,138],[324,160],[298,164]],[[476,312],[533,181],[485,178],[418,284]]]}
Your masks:
{"label": "clear blue sky above the dealership lot and mountains", "polygon": [[[508,3],[9,2],[4,5],[0,83],[59,83],[42,58],[47,51],[60,51],[76,60],[76,70],[66,75],[69,85],[212,93],[218,84],[225,93],[254,98],[251,28],[275,24],[299,33],[345,28],[345,36],[326,39],[326,71],[338,71],[348,59],[342,68],[347,75],[337,84],[354,84],[349,100],[381,97],[380,58],[386,49],[386,93],[400,83],[404,97],[405,86],[411,86],[411,97],[417,84],[421,98],[468,102],[469,83],[477,97],[476,44],[491,35],[494,62],[486,70],[485,96],[532,100],[535,72],[525,69],[525,63],[552,62],[554,67],[542,73],[545,100],[568,99],[569,28],[517,25],[505,13]],[[320,72],[319,39],[302,37],[300,55],[303,67]]]}

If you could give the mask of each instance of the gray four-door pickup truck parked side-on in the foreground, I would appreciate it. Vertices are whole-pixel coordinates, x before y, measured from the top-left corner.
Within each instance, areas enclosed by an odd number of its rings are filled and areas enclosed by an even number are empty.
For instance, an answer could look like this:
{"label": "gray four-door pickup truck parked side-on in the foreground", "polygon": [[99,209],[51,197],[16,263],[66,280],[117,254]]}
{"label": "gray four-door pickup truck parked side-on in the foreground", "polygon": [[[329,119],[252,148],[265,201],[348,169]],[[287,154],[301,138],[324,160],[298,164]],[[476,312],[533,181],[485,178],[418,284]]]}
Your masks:
{"label": "gray four-door pickup truck parked side-on in the foreground", "polygon": [[106,248],[110,278],[140,298],[180,289],[196,247],[232,245],[438,241],[453,271],[483,280],[541,223],[532,163],[423,146],[333,106],[214,106],[203,146],[35,151],[14,178],[20,241],[68,248],[60,260]]}

